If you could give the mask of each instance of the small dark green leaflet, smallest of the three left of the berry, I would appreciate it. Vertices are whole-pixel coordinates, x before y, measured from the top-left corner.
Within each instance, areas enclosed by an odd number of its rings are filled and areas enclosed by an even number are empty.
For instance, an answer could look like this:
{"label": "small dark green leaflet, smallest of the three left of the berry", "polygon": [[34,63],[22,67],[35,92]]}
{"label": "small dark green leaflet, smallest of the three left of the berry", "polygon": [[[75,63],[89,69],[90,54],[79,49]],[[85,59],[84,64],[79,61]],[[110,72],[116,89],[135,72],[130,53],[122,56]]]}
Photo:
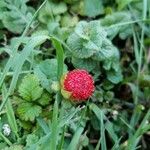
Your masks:
{"label": "small dark green leaflet, smallest of the three left of the berry", "polygon": [[47,92],[44,92],[41,98],[38,99],[38,103],[42,106],[46,106],[51,100],[52,100],[51,95]]}

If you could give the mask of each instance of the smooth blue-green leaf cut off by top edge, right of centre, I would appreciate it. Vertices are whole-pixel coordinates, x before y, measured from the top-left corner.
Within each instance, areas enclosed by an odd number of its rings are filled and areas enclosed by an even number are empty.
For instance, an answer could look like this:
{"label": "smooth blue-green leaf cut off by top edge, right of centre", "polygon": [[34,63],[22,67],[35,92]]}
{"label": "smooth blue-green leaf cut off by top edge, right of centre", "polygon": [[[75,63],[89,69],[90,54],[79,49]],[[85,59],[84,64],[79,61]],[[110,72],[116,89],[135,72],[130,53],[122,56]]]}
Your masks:
{"label": "smooth blue-green leaf cut off by top edge, right of centre", "polygon": [[84,14],[89,17],[95,17],[104,13],[102,0],[84,0]]}

